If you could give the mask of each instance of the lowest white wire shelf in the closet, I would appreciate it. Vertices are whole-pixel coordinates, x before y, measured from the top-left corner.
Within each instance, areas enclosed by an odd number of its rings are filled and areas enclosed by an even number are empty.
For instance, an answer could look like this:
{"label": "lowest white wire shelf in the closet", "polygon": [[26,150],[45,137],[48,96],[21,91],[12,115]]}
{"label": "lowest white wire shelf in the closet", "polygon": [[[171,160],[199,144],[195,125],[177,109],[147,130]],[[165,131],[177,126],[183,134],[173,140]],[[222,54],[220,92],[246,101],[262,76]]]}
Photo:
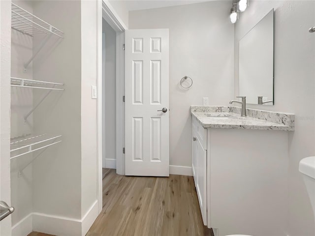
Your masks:
{"label": "lowest white wire shelf in the closet", "polygon": [[[37,151],[43,148],[48,148],[62,141],[56,141],[62,135],[53,134],[26,134],[11,139],[10,153],[19,151],[19,154],[13,155],[10,159]],[[52,141],[52,143],[49,143]],[[36,146],[36,147],[35,147]]]}

